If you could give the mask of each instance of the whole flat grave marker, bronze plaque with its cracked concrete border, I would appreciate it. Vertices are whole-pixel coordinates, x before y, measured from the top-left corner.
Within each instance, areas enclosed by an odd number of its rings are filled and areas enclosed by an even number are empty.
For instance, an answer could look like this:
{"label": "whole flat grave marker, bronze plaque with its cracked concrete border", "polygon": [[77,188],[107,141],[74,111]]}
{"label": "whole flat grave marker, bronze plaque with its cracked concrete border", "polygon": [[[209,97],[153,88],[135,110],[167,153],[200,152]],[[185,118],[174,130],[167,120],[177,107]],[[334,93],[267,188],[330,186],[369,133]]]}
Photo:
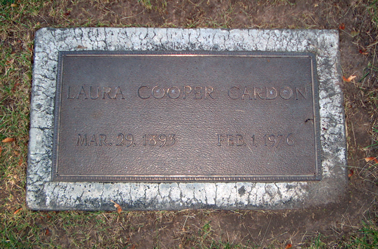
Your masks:
{"label": "whole flat grave marker, bronze plaque with its cracked concrete border", "polygon": [[280,209],[342,195],[338,33],[41,29],[35,210]]}

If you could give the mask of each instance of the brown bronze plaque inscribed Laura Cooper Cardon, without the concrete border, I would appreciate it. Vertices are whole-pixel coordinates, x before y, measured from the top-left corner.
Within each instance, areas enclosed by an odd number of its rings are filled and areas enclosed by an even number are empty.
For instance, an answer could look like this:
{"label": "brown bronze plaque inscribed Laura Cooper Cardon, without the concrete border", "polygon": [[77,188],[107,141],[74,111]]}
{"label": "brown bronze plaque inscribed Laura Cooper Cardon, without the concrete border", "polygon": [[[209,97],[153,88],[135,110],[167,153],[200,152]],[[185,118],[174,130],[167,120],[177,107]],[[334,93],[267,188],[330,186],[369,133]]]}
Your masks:
{"label": "brown bronze plaque inscribed Laura Cooper Cardon, without the concrete border", "polygon": [[311,53],[60,52],[53,180],[318,180]]}

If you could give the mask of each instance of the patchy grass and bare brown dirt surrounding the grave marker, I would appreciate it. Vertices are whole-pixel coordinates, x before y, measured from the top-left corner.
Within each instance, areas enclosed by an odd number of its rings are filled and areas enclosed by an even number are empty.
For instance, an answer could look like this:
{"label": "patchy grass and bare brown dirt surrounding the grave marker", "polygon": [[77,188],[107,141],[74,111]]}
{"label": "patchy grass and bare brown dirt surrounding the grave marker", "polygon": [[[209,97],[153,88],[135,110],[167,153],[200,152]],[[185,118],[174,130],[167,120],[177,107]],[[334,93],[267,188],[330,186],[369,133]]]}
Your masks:
{"label": "patchy grass and bare brown dirt surrounding the grave marker", "polygon": [[[378,1],[304,2],[0,0],[0,141],[14,139],[0,143],[0,247],[285,248],[289,243],[293,248],[314,249],[378,247],[378,165],[364,160],[378,155]],[[34,32],[41,27],[78,26],[339,29],[343,74],[357,75],[344,82],[353,170],[348,208],[342,212],[336,210],[342,206],[275,212],[124,211],[120,215],[28,210],[25,185]],[[359,143],[363,135],[350,118],[356,110],[368,122],[367,146]],[[332,212],[335,216],[322,218]]]}

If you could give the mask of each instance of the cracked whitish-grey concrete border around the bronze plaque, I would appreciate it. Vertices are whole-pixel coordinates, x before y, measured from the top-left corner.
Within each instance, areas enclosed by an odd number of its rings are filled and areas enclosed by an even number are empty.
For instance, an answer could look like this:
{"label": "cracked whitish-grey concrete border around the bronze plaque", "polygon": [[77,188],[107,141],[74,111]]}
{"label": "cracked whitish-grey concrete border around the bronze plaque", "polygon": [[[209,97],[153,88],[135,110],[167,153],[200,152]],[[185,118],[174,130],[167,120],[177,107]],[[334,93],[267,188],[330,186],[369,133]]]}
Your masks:
{"label": "cracked whitish-grey concrete border around the bronze plaque", "polygon": [[[33,210],[284,209],[336,201],[346,183],[339,34],[335,30],[43,28],[35,35],[27,205]],[[316,53],[322,180],[279,183],[52,182],[59,51],[276,51]],[[298,155],[300,156],[300,155]]]}

